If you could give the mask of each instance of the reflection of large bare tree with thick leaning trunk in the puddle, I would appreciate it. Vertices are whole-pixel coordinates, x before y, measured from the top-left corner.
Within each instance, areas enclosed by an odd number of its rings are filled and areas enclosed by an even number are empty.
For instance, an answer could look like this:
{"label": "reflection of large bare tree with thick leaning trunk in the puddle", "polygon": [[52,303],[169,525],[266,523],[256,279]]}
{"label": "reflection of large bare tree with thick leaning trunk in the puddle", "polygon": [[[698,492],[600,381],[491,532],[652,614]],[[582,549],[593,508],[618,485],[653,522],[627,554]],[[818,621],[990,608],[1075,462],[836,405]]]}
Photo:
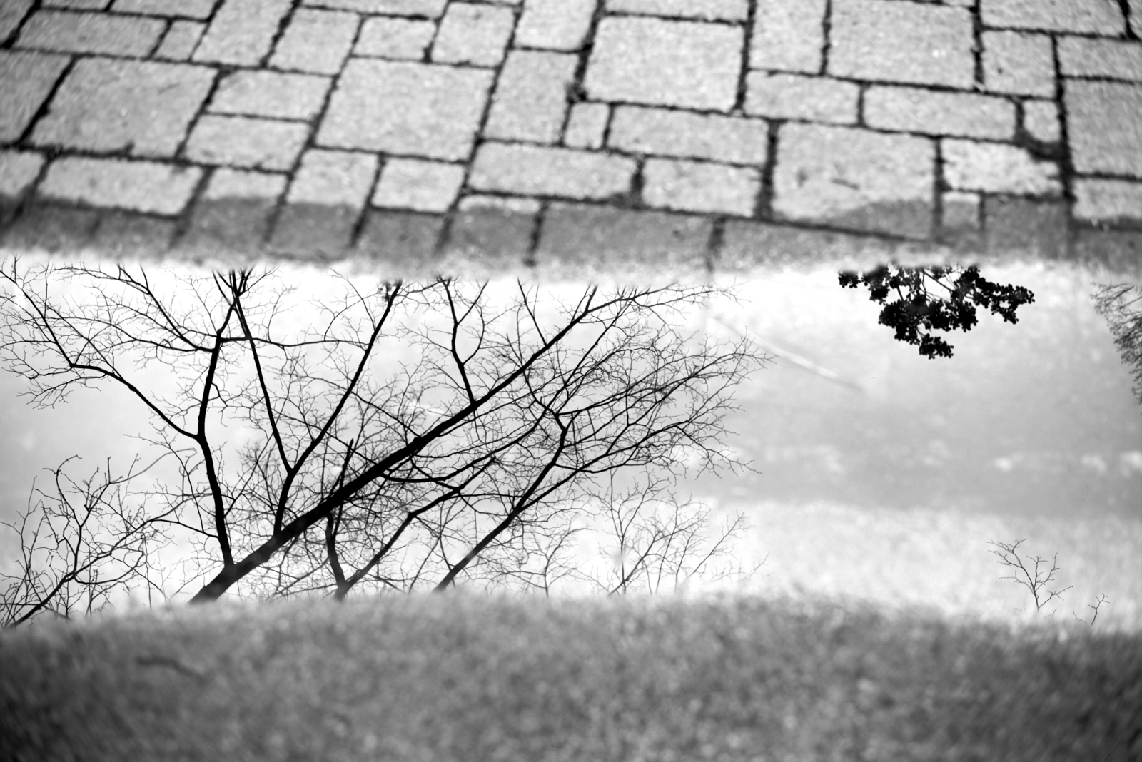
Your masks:
{"label": "reflection of large bare tree with thick leaning trunk in the puddle", "polygon": [[2,279],[0,356],[35,404],[113,383],[150,412],[178,477],[140,516],[193,538],[210,570],[196,601],[547,590],[609,475],[734,468],[722,419],[758,364],[745,340],[676,327],[707,287],[563,300],[521,283],[497,301],[481,284],[338,276],[304,313],[273,271],[13,260]]}

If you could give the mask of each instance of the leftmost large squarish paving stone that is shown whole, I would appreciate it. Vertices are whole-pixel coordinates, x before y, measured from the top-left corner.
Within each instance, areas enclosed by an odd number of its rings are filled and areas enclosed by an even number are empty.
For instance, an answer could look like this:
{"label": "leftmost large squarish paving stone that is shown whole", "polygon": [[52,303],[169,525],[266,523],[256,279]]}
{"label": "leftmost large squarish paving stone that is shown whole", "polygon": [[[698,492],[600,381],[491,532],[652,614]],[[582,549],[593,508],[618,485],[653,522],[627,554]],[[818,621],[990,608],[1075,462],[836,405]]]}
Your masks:
{"label": "leftmost large squarish paving stone that is shown whole", "polygon": [[83,58],[59,86],[32,143],[174,156],[214,78],[204,66]]}

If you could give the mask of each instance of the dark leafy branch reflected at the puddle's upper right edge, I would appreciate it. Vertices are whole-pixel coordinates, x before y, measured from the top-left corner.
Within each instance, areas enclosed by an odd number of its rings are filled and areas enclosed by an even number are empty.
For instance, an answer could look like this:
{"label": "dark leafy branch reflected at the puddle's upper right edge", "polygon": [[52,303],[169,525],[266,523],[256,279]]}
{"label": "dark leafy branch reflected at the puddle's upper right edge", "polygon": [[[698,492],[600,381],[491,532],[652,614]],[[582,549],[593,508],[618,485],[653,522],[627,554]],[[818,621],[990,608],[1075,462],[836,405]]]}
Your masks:
{"label": "dark leafy branch reflected at the puddle's upper right edge", "polygon": [[[955,278],[955,279],[952,279]],[[1015,309],[1035,301],[1035,294],[1023,286],[999,285],[971,267],[902,267],[880,265],[863,274],[846,270],[839,274],[843,287],[855,289],[864,284],[869,299],[885,305],[880,324],[895,329],[898,341],[918,346],[920,355],[930,359],[951,357],[951,344],[928,331],[963,329],[966,333],[978,322],[975,307],[986,307],[1007,323],[1018,323]],[[928,291],[934,284],[948,292],[936,298]],[[895,292],[894,301],[887,301]],[[939,292],[938,292],[939,293]]]}

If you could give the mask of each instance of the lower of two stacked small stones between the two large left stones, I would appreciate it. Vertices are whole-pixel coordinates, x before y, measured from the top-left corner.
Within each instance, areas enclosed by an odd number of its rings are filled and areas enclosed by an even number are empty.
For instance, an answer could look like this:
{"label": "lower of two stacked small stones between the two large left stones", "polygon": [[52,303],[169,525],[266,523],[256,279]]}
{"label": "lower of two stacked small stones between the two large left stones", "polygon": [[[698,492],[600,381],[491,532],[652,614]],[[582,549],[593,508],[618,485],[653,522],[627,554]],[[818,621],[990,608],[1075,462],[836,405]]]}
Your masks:
{"label": "lower of two stacked small stones between the two large left stones", "polygon": [[186,141],[186,157],[203,164],[289,170],[308,137],[299,122],[208,115]]}

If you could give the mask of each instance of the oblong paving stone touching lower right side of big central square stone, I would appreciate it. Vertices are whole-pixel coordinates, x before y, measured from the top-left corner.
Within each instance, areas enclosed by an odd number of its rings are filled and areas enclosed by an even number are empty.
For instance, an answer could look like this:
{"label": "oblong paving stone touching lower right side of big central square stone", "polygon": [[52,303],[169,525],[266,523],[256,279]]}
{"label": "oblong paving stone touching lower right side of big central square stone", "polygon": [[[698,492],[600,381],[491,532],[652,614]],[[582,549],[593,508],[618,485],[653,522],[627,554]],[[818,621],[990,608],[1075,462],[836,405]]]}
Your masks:
{"label": "oblong paving stone touching lower right side of big central square stone", "polygon": [[856,84],[823,76],[767,72],[746,76],[747,114],[855,124],[859,98]]}

